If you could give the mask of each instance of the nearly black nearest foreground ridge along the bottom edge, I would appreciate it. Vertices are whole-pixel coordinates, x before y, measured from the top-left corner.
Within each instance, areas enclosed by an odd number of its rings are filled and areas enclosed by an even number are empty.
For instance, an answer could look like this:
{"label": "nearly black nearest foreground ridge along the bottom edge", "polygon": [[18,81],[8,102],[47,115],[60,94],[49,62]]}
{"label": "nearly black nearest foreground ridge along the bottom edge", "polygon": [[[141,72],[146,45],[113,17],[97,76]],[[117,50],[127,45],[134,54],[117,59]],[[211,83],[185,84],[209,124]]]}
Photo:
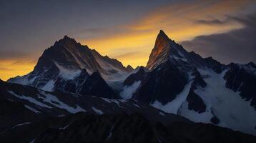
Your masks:
{"label": "nearly black nearest foreground ridge along the bottom edge", "polygon": [[[72,114],[16,127],[2,142],[255,142],[256,137],[211,124],[163,125],[142,114]],[[26,133],[26,134],[24,134]],[[15,137],[15,138],[14,138]]]}

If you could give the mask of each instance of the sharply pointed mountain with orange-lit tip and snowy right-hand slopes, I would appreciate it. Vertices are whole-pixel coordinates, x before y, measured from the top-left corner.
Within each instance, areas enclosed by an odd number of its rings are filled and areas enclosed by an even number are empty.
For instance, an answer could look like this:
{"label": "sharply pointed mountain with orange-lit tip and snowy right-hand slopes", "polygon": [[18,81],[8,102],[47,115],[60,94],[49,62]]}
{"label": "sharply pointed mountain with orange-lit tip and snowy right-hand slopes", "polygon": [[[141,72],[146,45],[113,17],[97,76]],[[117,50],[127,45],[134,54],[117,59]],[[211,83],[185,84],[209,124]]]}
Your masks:
{"label": "sharply pointed mountain with orange-lit tip and snowy right-hand slopes", "polygon": [[129,84],[140,83],[133,99],[194,122],[256,134],[254,63],[225,65],[202,58],[160,31],[146,68],[128,77]]}

